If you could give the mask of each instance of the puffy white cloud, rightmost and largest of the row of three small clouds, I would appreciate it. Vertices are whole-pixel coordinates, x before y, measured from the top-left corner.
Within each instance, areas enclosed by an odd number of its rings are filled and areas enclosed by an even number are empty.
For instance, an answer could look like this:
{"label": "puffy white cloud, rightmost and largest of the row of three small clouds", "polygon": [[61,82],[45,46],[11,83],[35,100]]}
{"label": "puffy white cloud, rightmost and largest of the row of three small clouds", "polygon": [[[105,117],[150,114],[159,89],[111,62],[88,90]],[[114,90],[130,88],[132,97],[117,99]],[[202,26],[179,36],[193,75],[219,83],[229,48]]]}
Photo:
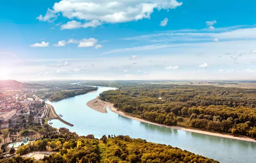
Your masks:
{"label": "puffy white cloud, rightmost and largest of the row of three small clouds", "polygon": [[102,45],[97,44],[98,39],[95,38],[89,38],[89,39],[82,39],[82,40],[75,40],[75,39],[70,39],[68,40],[69,43],[74,43],[78,44],[77,47],[94,47],[95,49],[101,48]]}

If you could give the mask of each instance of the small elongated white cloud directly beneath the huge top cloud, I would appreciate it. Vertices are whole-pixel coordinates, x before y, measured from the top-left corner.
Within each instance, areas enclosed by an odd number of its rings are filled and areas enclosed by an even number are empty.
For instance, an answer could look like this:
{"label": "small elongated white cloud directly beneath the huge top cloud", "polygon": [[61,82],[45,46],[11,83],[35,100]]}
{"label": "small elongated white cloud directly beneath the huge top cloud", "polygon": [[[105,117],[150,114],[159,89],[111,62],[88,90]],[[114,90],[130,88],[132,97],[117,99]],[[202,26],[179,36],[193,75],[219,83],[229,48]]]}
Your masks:
{"label": "small elongated white cloud directly beneath the huge top cloud", "polygon": [[68,21],[66,24],[61,25],[61,29],[88,28],[88,27],[97,27],[98,25],[101,25],[99,20],[92,20],[84,24],[82,24],[81,22],[72,20],[72,21]]}

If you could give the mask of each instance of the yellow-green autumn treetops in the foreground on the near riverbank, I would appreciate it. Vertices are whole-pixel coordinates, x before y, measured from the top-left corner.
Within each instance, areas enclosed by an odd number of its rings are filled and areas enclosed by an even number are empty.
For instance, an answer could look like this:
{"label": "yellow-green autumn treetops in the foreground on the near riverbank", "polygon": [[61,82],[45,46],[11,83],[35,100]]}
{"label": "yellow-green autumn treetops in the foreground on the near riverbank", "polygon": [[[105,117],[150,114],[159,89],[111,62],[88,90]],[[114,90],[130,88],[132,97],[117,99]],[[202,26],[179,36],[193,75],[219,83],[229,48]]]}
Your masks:
{"label": "yellow-green autumn treetops in the foreground on the near riverbank", "polygon": [[196,155],[177,147],[146,142],[129,136],[103,135],[95,139],[93,135],[78,136],[66,128],[60,128],[55,138],[37,140],[23,145],[16,154],[26,154],[38,150],[56,150],[42,160],[15,156],[0,160],[1,163],[219,163],[213,159]]}

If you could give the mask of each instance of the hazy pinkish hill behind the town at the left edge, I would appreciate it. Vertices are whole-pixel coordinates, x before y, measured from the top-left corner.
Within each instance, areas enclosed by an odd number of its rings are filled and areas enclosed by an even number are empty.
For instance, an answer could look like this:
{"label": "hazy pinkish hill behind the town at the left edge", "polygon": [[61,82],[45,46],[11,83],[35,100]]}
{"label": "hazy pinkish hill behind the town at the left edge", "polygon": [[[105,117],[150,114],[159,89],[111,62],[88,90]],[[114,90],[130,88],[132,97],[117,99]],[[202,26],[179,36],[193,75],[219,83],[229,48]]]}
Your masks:
{"label": "hazy pinkish hill behind the town at the left edge", "polygon": [[31,87],[33,84],[21,83],[16,80],[0,80],[0,89],[20,89]]}

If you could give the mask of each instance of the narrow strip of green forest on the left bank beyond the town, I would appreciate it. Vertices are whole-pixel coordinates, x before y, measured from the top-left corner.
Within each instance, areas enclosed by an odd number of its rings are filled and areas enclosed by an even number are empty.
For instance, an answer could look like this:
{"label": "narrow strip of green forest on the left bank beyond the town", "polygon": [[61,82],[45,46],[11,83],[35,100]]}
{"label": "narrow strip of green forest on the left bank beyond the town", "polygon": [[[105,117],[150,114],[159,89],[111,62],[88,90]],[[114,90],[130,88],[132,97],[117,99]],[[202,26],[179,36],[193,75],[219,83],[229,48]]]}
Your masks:
{"label": "narrow strip of green forest on the left bank beyond the town", "polygon": [[49,97],[49,101],[60,101],[60,100],[65,99],[65,98],[75,97],[77,95],[83,95],[83,94],[86,94],[90,91],[96,91],[96,90],[98,90],[98,88],[86,87],[82,90],[53,92],[53,95],[51,95]]}

